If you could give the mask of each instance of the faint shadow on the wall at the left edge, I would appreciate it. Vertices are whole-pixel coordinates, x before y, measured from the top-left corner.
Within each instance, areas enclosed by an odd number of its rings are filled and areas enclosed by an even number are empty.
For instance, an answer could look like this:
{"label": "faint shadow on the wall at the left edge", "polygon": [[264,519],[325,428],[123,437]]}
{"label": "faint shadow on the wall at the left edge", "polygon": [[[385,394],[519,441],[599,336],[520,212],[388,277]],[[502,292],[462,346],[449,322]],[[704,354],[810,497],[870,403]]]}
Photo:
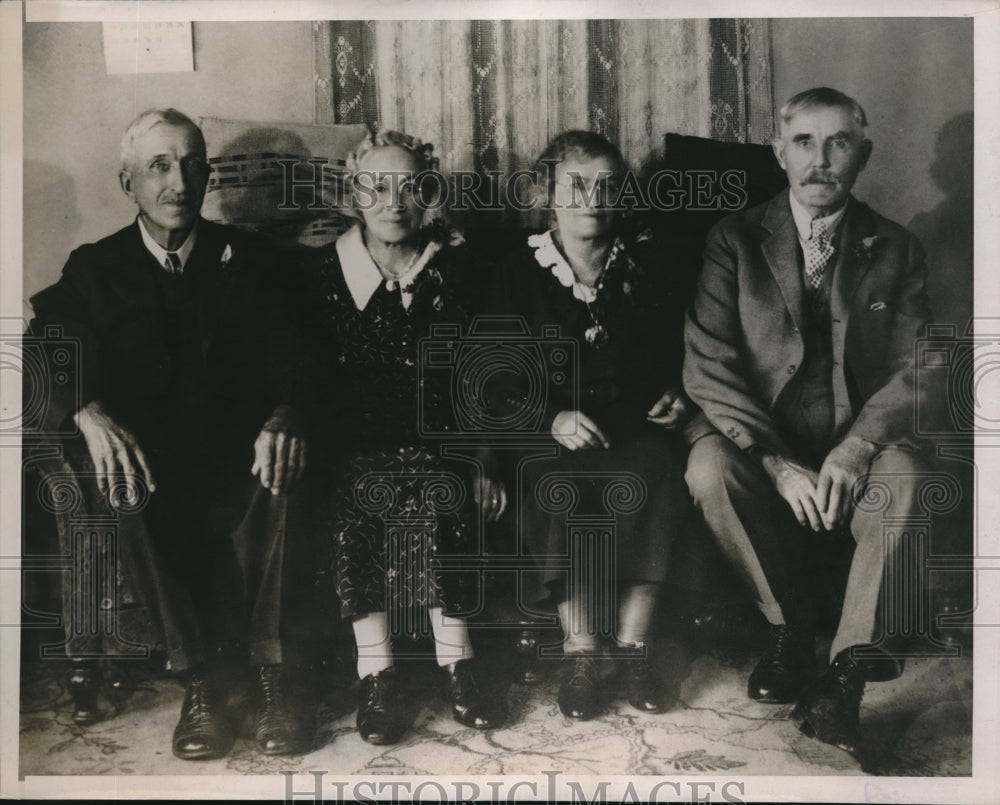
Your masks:
{"label": "faint shadow on the wall at the left edge", "polygon": [[[58,272],[78,243],[83,225],[76,181],[58,165],[24,162],[24,232],[44,233],[24,238],[24,298],[58,279]],[[30,312],[27,301],[25,315]]]}

